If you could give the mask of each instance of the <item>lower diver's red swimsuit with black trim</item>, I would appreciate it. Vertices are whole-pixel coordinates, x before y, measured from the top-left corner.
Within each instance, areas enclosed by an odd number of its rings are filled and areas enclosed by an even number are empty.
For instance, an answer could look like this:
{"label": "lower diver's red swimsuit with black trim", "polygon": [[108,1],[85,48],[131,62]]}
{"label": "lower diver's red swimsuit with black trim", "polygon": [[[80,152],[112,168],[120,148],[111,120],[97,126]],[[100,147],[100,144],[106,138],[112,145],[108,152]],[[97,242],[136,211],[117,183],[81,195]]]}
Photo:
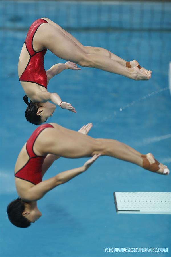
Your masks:
{"label": "lower diver's red swimsuit with black trim", "polygon": [[27,163],[18,170],[15,173],[16,178],[21,178],[23,180],[26,180],[28,182],[31,182],[32,184],[36,185],[42,181],[42,164],[44,162],[45,156],[37,156],[34,153],[33,146],[36,141],[36,138],[40,135],[40,133],[45,129],[45,128],[54,128],[50,124],[43,124],[40,125],[27,141],[26,144],[26,150],[27,154],[29,156],[29,159]]}

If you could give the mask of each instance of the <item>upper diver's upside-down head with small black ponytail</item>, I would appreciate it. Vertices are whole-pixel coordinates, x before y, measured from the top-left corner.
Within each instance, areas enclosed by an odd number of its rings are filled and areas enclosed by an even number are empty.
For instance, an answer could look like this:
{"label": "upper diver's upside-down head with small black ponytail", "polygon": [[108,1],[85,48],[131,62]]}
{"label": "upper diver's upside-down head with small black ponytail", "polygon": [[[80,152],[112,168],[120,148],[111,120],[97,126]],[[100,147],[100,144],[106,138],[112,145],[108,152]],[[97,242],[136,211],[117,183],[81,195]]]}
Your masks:
{"label": "upper diver's upside-down head with small black ponytail", "polygon": [[46,102],[46,103],[33,103],[30,100],[28,102],[28,97],[25,95],[23,97],[24,102],[27,104],[27,108],[25,111],[25,117],[27,121],[33,123],[35,125],[40,125],[47,121],[47,119],[53,115],[56,105]]}

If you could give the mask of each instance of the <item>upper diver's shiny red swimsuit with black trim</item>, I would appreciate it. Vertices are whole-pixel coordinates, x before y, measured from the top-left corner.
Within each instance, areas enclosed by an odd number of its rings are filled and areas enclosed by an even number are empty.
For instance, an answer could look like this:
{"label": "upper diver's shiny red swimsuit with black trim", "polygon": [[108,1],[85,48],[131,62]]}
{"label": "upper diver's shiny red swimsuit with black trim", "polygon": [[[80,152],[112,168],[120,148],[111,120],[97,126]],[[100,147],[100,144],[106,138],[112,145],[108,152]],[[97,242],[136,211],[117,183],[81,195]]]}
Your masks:
{"label": "upper diver's shiny red swimsuit with black trim", "polygon": [[47,88],[47,75],[44,69],[44,55],[47,51],[47,48],[39,52],[36,52],[33,49],[33,37],[38,27],[40,27],[40,25],[42,25],[43,23],[48,22],[44,19],[38,19],[32,23],[28,30],[25,45],[30,55],[30,59],[27,63],[25,70],[19,78],[19,81],[32,82]]}

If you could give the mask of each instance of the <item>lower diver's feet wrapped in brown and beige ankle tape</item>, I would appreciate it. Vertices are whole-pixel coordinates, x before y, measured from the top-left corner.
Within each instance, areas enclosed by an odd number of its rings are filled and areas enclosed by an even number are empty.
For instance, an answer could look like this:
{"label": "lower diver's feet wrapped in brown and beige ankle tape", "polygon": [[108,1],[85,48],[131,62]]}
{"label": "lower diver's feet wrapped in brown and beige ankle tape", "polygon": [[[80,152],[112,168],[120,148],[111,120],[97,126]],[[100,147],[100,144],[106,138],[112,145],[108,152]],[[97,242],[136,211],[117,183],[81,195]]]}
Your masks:
{"label": "lower diver's feet wrapped in brown and beige ankle tape", "polygon": [[[145,157],[145,155],[143,156]],[[143,168],[161,175],[168,175],[170,172],[168,167],[159,163],[151,153],[146,154],[146,158],[143,158]]]}

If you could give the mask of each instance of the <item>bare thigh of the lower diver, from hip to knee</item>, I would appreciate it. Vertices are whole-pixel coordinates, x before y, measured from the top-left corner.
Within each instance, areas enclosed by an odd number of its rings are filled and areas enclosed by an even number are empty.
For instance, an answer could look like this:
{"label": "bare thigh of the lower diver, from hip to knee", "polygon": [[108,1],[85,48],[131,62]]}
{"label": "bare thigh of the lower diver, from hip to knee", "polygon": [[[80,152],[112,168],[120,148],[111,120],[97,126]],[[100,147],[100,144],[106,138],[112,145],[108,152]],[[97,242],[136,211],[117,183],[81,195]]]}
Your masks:
{"label": "bare thigh of the lower diver, from hip to knee", "polygon": [[51,153],[66,158],[82,158],[101,150],[101,143],[76,131],[47,128],[37,138],[35,147],[42,155]]}

